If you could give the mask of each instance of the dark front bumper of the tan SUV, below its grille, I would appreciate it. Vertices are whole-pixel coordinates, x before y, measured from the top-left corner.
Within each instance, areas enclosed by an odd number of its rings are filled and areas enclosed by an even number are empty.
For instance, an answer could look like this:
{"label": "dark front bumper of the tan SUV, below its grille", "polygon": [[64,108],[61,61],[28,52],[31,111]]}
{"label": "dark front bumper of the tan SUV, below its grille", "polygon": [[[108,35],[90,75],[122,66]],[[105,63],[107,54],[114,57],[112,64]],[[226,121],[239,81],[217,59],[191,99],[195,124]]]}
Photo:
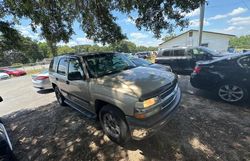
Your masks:
{"label": "dark front bumper of the tan SUV, below its grille", "polygon": [[178,87],[174,101],[157,114],[145,119],[136,119],[131,116],[126,116],[132,138],[135,140],[142,140],[161,129],[177,111],[180,101],[181,91]]}

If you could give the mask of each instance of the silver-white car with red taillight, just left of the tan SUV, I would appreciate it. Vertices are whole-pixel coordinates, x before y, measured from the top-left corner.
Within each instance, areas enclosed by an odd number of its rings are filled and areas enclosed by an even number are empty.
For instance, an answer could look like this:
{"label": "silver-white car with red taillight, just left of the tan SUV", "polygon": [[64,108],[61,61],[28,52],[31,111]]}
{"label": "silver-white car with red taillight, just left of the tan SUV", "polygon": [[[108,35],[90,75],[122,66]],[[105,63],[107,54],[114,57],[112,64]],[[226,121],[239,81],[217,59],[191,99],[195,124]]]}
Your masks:
{"label": "silver-white car with red taillight, just left of the tan SUV", "polygon": [[49,80],[49,70],[43,70],[39,74],[34,74],[32,77],[33,87],[40,90],[52,89],[52,84]]}

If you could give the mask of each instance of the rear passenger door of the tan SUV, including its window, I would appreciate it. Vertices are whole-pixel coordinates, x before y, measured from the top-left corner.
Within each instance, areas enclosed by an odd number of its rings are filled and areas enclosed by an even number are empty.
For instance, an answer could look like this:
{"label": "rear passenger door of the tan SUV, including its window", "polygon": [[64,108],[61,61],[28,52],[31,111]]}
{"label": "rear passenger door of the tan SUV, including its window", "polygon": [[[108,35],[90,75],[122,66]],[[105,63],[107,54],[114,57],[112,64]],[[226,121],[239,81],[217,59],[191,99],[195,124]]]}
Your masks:
{"label": "rear passenger door of the tan SUV, including its window", "polygon": [[67,93],[67,68],[68,68],[68,61],[66,57],[62,57],[59,59],[59,63],[57,66],[57,71],[55,75],[56,85],[58,86],[59,90],[63,94],[65,98],[68,98]]}

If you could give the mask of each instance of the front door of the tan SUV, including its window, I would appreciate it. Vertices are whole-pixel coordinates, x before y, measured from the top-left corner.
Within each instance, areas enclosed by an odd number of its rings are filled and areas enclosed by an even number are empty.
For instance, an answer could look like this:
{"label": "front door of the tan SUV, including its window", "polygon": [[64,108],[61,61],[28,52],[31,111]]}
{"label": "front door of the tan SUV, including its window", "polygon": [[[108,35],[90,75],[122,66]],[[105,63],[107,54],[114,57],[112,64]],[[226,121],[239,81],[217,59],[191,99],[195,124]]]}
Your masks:
{"label": "front door of the tan SUV, including its window", "polygon": [[93,112],[89,101],[89,83],[86,79],[82,63],[77,57],[69,58],[68,81],[67,91],[70,101]]}

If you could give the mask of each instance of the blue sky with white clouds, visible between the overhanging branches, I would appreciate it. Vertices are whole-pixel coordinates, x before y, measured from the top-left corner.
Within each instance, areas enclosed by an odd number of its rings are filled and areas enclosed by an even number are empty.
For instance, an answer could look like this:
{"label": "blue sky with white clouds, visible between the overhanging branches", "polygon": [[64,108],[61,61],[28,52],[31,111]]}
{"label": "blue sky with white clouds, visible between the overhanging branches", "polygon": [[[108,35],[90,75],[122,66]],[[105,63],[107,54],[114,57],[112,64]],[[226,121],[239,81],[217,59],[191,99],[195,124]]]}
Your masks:
{"label": "blue sky with white clouds, visible between the overhanging branches", "polygon": [[[190,29],[199,29],[199,13],[199,8],[190,13],[183,13],[190,20],[190,26],[183,31],[176,28],[174,34],[178,35]],[[117,17],[117,23],[121,26],[122,32],[128,37],[128,40],[136,45],[158,46],[162,42],[161,38],[154,38],[152,32],[138,30],[134,21],[127,15],[114,13],[114,16]],[[133,13],[132,16],[134,16]],[[39,29],[37,33],[32,32],[28,19],[22,19],[20,22],[15,27],[21,34],[31,37],[33,40],[45,41],[41,38]],[[204,30],[241,36],[250,34],[249,26],[250,0],[208,0],[208,4],[205,6]],[[79,23],[75,22],[73,28],[75,34],[66,45],[94,44],[92,40],[85,37]],[[162,37],[166,35],[167,33],[163,32]],[[58,45],[65,45],[65,43],[60,42]]]}

